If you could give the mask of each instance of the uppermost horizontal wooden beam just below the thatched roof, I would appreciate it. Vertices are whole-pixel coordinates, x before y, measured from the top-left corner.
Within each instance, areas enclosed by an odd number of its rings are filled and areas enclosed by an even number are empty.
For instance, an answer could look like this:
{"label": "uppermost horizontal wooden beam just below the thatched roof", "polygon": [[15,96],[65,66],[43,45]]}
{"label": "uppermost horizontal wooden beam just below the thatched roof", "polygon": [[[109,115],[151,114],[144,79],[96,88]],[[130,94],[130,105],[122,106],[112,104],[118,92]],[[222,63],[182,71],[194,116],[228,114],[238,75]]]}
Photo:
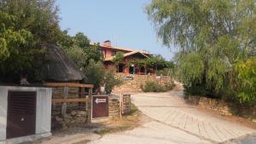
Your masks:
{"label": "uppermost horizontal wooden beam just below the thatched roof", "polygon": [[93,84],[75,84],[75,83],[44,83],[49,87],[73,87],[73,88],[93,88]]}

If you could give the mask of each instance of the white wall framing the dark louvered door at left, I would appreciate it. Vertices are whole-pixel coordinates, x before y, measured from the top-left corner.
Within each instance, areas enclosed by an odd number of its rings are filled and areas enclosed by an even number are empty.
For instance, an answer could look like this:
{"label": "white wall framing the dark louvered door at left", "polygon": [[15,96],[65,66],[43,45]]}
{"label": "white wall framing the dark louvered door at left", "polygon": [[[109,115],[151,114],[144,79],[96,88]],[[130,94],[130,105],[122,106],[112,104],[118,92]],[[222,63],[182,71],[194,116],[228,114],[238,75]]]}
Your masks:
{"label": "white wall framing the dark louvered door at left", "polygon": [[0,86],[0,141],[6,139],[8,90],[37,91],[36,134],[50,132],[51,88]]}

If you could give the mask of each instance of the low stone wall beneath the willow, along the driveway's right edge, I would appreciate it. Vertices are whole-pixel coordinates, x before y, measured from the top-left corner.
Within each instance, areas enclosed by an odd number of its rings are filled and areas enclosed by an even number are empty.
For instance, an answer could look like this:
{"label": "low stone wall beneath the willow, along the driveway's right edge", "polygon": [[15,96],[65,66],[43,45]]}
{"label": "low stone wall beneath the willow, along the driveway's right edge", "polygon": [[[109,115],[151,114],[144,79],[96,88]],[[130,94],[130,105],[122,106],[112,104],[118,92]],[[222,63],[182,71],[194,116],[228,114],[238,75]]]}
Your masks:
{"label": "low stone wall beneath the willow, along the driveway's right edge", "polygon": [[202,96],[187,96],[185,99],[189,104],[219,112],[221,115],[236,115],[248,118],[256,123],[256,106],[242,106],[241,104],[228,103],[222,100],[211,99]]}

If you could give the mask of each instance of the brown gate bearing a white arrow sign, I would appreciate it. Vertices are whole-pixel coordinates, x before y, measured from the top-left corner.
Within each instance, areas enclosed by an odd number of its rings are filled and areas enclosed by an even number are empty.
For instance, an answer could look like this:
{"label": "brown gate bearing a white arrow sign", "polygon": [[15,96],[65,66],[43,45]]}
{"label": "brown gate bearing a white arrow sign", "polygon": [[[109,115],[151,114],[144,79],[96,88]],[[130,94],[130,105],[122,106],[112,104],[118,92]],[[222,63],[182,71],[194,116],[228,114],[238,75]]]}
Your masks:
{"label": "brown gate bearing a white arrow sign", "polygon": [[108,111],[108,95],[92,96],[92,118],[106,118]]}

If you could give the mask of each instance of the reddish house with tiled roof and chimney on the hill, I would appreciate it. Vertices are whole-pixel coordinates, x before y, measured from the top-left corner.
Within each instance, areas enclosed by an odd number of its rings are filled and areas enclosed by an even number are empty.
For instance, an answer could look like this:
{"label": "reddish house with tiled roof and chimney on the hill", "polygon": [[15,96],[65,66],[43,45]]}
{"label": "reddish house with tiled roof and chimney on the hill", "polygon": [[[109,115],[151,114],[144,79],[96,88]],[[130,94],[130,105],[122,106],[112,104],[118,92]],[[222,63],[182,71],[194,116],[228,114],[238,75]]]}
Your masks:
{"label": "reddish house with tiled roof and chimney on the hill", "polygon": [[113,47],[110,41],[105,41],[100,44],[100,50],[103,55],[104,65],[106,68],[115,66],[113,58],[117,52],[124,53],[124,60],[116,68],[117,72],[130,73],[130,74],[147,74],[148,72],[154,73],[152,69],[148,69],[143,65],[138,65],[133,62],[135,60],[148,59],[151,56],[144,50],[134,50],[120,47]]}

